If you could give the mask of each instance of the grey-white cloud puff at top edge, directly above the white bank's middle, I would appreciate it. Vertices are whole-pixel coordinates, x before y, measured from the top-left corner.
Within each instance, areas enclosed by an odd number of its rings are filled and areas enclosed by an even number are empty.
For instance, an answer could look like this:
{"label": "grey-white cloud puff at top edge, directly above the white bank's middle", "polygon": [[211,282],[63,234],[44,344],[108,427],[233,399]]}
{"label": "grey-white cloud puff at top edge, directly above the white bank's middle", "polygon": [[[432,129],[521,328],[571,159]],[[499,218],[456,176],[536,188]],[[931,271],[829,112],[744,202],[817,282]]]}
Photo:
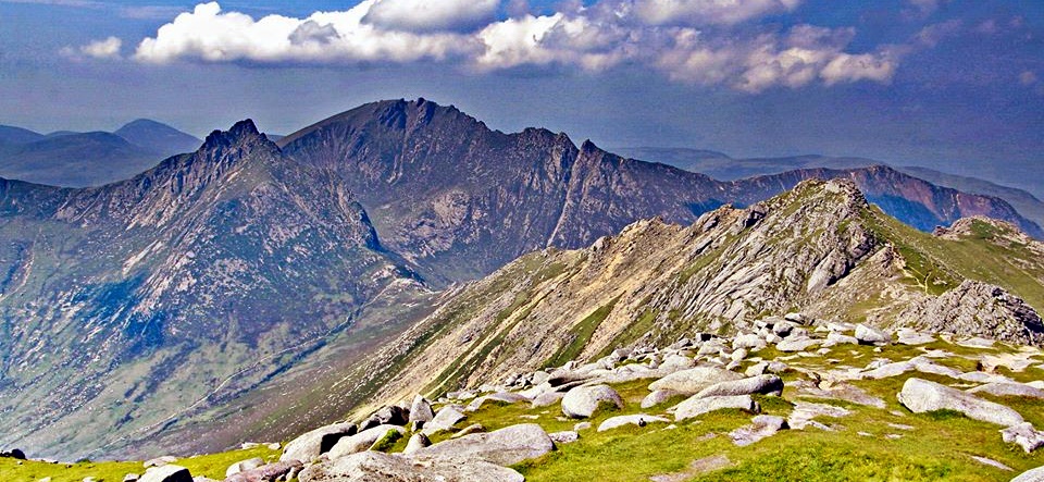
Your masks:
{"label": "grey-white cloud puff at top edge, directly above the white bank's middle", "polygon": [[469,30],[494,21],[500,0],[380,0],[362,18],[388,29]]}

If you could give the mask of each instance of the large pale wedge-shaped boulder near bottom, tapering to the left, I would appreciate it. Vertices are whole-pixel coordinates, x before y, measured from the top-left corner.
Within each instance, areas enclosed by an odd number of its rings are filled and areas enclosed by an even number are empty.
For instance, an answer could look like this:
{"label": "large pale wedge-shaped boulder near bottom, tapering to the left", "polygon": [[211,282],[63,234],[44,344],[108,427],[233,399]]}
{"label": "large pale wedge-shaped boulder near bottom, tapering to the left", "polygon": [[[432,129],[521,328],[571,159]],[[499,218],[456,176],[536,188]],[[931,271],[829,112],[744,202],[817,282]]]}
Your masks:
{"label": "large pale wedge-shaped boulder near bottom, tapering to the left", "polygon": [[555,449],[555,443],[540,425],[525,423],[488,433],[474,433],[418,449],[410,457],[450,457],[477,459],[511,466]]}

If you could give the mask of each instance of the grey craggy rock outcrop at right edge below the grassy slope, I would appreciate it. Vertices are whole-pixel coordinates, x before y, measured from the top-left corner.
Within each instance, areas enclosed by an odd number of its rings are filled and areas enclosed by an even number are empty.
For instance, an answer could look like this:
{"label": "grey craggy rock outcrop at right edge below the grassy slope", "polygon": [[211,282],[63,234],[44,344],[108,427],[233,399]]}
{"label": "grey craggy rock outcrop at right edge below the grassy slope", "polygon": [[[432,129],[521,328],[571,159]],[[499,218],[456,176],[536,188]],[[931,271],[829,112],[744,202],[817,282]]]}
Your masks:
{"label": "grey craggy rock outcrop at right edge below the grassy slope", "polygon": [[977,281],[965,281],[937,298],[911,306],[898,316],[897,324],[931,333],[1044,344],[1044,322],[1032,307],[1004,288]]}

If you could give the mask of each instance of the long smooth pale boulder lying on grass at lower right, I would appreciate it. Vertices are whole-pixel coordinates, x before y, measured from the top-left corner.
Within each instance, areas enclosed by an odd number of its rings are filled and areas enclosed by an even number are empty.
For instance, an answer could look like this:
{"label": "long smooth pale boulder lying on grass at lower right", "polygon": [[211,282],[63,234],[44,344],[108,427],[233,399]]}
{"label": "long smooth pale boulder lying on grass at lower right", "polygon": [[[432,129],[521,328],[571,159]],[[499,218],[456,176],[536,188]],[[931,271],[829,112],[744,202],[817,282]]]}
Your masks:
{"label": "long smooth pale boulder lying on grass at lower right", "polygon": [[908,379],[897,397],[916,413],[956,410],[968,418],[1004,427],[1022,423],[1022,416],[1008,407],[927,380]]}

